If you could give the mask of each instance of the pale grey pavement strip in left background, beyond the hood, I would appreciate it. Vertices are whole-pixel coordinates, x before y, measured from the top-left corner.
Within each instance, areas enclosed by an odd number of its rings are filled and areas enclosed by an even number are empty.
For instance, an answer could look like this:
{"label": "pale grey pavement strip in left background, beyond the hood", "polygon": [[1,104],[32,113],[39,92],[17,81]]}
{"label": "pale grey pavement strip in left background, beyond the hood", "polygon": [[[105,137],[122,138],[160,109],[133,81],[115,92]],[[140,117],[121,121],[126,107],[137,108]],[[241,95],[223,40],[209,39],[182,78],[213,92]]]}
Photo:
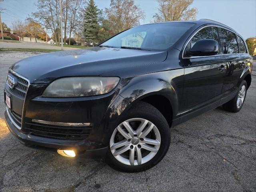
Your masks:
{"label": "pale grey pavement strip in left background, beyond the hood", "polygon": [[[61,47],[45,43],[35,42],[23,42],[23,41],[6,41],[0,42],[0,48],[36,48],[36,49],[57,49],[61,50]],[[74,50],[78,48],[64,47],[64,50]]]}

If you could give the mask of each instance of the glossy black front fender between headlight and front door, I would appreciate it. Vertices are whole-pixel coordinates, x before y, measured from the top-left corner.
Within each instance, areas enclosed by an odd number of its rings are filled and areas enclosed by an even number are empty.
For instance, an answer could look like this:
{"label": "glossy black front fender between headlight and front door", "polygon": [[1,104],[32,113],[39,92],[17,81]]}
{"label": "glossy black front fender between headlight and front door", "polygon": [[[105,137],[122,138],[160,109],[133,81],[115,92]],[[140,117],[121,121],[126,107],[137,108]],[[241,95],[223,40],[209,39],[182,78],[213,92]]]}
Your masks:
{"label": "glossy black front fender between headlight and front door", "polygon": [[184,69],[168,70],[128,78],[121,82],[118,93],[129,103],[151,95],[161,95],[172,106],[173,119],[179,115]]}

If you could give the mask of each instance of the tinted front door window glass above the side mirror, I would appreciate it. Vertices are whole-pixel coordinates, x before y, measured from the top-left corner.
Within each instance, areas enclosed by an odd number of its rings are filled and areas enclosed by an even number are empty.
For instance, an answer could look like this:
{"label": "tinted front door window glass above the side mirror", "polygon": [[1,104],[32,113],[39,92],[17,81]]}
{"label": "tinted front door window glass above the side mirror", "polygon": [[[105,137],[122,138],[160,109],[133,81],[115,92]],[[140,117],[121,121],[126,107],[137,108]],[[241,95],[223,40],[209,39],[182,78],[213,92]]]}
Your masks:
{"label": "tinted front door window glass above the side mirror", "polygon": [[218,42],[218,29],[217,27],[206,27],[198,31],[195,36],[190,40],[186,49],[190,49],[196,42],[201,39],[213,39]]}

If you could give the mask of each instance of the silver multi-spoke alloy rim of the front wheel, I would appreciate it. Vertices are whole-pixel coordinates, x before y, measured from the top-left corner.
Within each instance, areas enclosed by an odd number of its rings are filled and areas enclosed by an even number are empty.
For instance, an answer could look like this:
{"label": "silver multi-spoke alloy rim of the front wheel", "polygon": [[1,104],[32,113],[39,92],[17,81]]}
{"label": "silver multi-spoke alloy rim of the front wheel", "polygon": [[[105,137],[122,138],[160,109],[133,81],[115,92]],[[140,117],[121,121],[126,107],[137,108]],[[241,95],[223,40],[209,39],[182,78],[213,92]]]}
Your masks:
{"label": "silver multi-spoke alloy rim of the front wheel", "polygon": [[110,138],[110,151],[122,164],[136,166],[150,161],[160,144],[160,132],[152,122],[132,118],[115,128]]}

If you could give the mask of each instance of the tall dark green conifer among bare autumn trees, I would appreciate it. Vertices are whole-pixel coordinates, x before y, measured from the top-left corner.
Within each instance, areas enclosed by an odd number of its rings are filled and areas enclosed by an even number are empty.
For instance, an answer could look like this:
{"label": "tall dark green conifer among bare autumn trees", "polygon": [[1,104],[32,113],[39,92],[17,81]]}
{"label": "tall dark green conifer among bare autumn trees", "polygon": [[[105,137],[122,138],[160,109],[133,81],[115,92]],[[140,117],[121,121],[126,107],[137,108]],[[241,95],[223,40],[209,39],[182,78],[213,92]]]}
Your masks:
{"label": "tall dark green conifer among bare autumn trees", "polygon": [[96,42],[99,30],[98,8],[94,0],[89,0],[84,11],[84,36],[87,42]]}

